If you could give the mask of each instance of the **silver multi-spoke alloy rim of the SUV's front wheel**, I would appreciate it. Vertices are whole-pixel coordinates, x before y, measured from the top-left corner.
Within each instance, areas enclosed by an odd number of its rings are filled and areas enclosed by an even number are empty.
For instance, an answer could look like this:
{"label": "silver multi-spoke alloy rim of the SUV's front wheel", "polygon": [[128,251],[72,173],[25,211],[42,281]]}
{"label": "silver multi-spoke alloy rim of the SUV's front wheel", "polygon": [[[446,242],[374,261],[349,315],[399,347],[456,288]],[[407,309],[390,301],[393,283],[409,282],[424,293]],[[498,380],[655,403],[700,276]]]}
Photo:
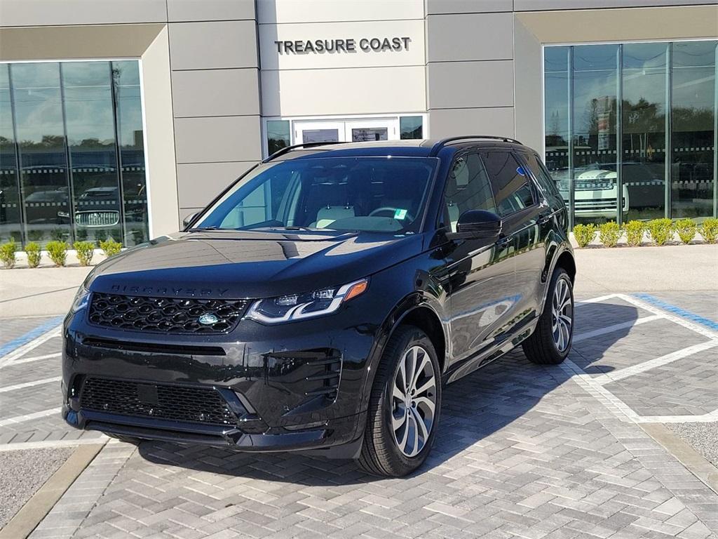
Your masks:
{"label": "silver multi-spoke alloy rim of the SUV's front wheel", "polygon": [[432,433],[436,383],[429,353],[411,346],[399,360],[391,387],[391,430],[405,456],[419,454]]}

